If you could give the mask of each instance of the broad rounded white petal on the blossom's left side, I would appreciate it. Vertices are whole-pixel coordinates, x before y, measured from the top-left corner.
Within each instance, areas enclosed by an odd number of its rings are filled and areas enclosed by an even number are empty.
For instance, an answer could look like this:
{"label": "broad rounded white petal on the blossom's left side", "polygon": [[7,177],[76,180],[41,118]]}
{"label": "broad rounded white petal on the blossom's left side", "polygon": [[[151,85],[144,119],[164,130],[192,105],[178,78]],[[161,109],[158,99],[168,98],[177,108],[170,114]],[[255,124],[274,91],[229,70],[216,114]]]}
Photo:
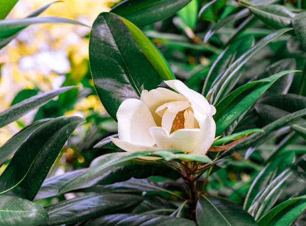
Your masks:
{"label": "broad rounded white petal on the blossom's left side", "polygon": [[126,99],[117,111],[118,136],[135,145],[153,146],[149,129],[156,126],[149,108],[139,99]]}

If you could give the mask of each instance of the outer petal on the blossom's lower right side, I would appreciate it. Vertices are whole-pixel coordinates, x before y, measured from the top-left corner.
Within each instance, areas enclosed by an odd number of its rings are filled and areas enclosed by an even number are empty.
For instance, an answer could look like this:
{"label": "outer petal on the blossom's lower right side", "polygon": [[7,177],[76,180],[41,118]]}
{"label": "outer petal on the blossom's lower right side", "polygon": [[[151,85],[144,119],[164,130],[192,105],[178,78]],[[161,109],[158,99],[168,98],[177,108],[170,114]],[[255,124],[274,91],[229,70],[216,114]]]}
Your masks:
{"label": "outer petal on the blossom's lower right side", "polygon": [[192,154],[206,155],[208,149],[212,146],[216,136],[216,123],[213,117],[207,117],[200,124],[200,136],[197,146],[191,152]]}

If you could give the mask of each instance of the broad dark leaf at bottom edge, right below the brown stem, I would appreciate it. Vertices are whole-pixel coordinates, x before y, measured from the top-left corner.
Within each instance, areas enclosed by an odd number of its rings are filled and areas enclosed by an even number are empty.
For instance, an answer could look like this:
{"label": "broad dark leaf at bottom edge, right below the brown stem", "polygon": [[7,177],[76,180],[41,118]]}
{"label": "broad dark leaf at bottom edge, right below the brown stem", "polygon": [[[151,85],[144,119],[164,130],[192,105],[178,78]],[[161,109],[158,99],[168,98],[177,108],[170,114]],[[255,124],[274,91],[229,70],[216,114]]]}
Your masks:
{"label": "broad dark leaf at bottom edge, right below the brown stem", "polygon": [[198,225],[209,226],[256,226],[254,219],[237,203],[229,200],[201,195],[197,202]]}

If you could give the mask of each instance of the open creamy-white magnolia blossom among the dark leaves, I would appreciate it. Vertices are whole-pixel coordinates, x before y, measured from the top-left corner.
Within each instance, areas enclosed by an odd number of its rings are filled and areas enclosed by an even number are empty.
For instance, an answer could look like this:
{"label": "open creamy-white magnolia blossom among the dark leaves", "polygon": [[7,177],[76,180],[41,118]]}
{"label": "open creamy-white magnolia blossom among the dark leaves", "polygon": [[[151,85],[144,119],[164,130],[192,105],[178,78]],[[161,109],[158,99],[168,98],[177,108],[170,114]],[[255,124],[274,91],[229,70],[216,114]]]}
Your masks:
{"label": "open creamy-white magnolia blossom among the dark leaves", "polygon": [[111,141],[128,151],[174,148],[205,155],[216,135],[216,109],[179,80],[173,90],[143,90],[140,99],[124,100],[117,111],[118,137]]}

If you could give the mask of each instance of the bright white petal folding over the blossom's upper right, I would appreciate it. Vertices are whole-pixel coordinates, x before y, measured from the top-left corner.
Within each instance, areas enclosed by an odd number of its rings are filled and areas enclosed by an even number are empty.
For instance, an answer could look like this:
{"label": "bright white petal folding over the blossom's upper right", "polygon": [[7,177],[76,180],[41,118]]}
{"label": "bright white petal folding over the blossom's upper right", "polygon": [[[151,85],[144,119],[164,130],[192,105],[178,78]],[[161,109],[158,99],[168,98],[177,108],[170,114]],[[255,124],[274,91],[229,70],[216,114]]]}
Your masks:
{"label": "bright white petal folding over the blossom's upper right", "polygon": [[165,81],[165,83],[188,99],[194,109],[197,120],[200,115],[196,112],[203,114],[206,113],[208,109],[209,111],[211,110],[210,104],[206,98],[197,91],[189,89],[183,82],[179,80],[168,80]]}

